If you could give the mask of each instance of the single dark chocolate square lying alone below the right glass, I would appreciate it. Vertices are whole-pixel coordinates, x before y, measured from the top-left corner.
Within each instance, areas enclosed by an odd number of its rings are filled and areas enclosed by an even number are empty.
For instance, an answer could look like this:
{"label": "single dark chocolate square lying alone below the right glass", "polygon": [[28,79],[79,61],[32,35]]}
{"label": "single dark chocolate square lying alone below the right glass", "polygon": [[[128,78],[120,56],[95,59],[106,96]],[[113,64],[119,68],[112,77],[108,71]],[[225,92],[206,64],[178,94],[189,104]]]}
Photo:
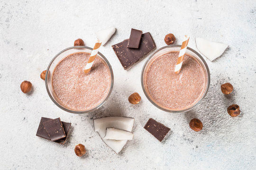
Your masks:
{"label": "single dark chocolate square lying alone below the right glass", "polygon": [[164,137],[168,134],[170,128],[150,118],[146,122],[144,128],[151,133],[157,140],[162,142]]}

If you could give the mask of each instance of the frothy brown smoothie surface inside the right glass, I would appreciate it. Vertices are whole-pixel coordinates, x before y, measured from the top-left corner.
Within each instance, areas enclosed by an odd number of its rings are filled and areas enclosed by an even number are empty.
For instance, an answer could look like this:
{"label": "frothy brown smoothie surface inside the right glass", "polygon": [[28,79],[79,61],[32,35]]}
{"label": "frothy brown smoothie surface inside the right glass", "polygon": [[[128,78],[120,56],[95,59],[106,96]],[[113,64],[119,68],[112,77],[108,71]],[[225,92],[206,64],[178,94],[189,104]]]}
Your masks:
{"label": "frothy brown smoothie surface inside the right glass", "polygon": [[185,54],[181,72],[174,73],[179,52],[156,57],[146,70],[146,89],[152,100],[168,110],[183,110],[200,100],[204,93],[204,69],[191,55]]}

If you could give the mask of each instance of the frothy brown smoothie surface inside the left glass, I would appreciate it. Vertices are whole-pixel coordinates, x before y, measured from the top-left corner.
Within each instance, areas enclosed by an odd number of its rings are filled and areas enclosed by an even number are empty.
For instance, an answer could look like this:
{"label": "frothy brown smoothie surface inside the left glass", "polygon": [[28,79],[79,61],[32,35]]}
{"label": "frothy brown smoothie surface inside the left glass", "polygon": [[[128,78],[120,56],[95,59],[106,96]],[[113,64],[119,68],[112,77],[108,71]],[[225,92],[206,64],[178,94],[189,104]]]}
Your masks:
{"label": "frothy brown smoothie surface inside the left glass", "polygon": [[83,72],[90,54],[73,53],[56,66],[52,83],[56,97],[72,110],[90,110],[108,95],[111,75],[108,66],[99,58],[89,74]]}

